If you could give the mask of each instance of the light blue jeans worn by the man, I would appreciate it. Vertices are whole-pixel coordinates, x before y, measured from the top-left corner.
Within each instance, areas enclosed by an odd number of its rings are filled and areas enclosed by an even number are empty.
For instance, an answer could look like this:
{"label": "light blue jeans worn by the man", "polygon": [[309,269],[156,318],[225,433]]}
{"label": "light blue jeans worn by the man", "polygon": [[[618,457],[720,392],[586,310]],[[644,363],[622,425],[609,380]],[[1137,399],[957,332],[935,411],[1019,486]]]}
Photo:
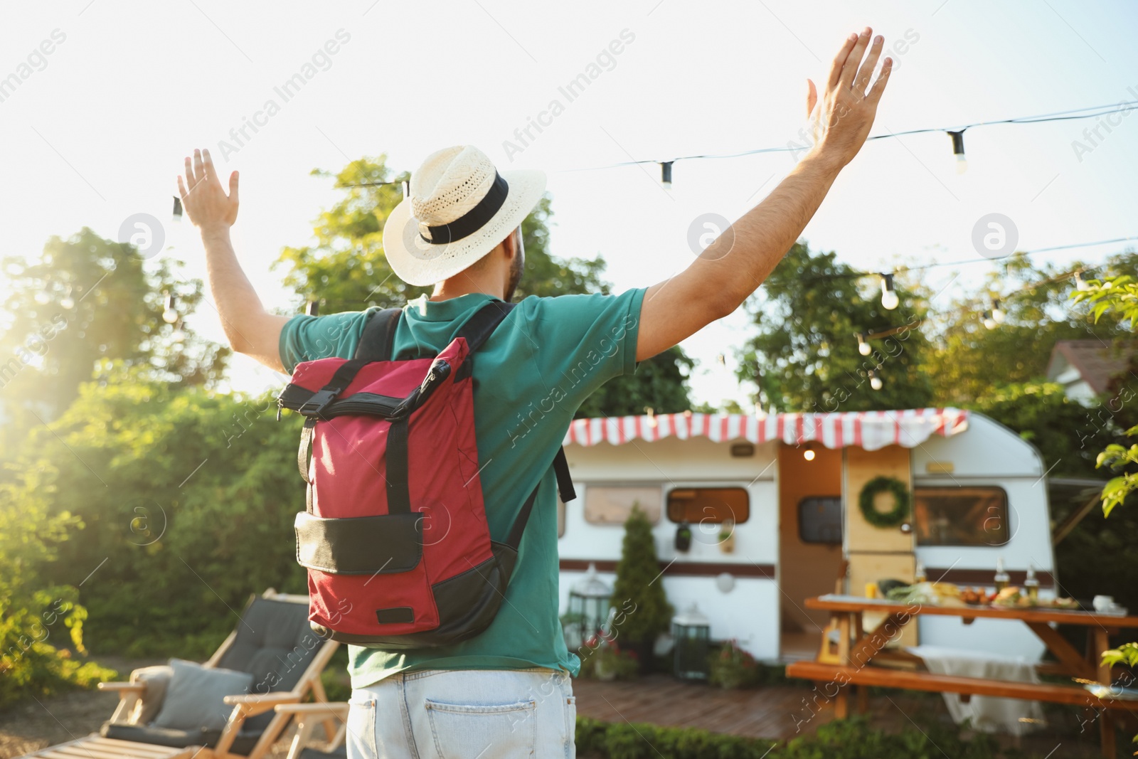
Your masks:
{"label": "light blue jeans worn by the man", "polygon": [[348,759],[572,759],[569,673],[427,669],[352,691]]}

